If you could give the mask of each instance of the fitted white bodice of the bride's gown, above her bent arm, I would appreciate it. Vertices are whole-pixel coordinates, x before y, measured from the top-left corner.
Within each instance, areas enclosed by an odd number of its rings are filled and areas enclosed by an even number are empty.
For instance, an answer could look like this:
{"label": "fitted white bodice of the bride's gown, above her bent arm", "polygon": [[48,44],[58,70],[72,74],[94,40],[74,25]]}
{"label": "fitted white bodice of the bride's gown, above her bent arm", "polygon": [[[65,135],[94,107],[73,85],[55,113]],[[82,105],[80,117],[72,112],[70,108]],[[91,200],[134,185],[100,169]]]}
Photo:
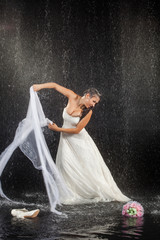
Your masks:
{"label": "fitted white bodice of the bride's gown, above her bent arm", "polygon": [[63,127],[64,128],[74,128],[77,126],[80,117],[73,117],[67,113],[66,108],[63,110]]}

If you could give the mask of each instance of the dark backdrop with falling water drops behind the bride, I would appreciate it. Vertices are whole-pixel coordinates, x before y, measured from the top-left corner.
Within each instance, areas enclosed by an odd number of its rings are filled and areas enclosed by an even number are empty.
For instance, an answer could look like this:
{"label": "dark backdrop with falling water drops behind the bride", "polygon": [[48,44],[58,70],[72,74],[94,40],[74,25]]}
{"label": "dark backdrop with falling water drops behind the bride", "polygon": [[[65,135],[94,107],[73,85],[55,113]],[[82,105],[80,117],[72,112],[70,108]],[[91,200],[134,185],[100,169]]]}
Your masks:
{"label": "dark backdrop with falling water drops behind the bride", "polygon": [[[129,197],[159,193],[160,13],[154,0],[0,1],[0,152],[25,118],[29,88],[55,81],[102,93],[87,130]],[[65,97],[39,92],[59,126]],[[44,130],[55,160],[59,134]],[[45,191],[17,149],[2,175],[9,196]]]}

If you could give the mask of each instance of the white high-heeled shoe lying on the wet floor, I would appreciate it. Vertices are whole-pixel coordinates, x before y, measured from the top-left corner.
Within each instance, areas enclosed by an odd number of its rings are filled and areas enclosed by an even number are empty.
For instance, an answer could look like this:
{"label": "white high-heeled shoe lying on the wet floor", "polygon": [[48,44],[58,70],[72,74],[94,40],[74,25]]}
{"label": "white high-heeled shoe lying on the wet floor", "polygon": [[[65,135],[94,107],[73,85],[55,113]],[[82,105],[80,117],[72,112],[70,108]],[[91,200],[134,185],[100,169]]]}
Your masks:
{"label": "white high-heeled shoe lying on the wet floor", "polygon": [[17,217],[17,218],[35,218],[35,217],[37,217],[39,212],[40,212],[39,209],[35,209],[32,211],[28,211],[26,208],[12,209],[11,215],[13,217]]}

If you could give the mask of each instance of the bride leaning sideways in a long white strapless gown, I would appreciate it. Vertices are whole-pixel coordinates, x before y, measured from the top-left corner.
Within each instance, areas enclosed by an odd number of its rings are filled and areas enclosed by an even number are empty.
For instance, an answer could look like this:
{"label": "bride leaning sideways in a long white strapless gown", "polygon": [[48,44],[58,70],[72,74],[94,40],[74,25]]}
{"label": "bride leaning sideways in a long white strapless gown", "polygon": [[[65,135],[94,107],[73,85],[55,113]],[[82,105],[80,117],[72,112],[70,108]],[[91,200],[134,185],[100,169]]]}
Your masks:
{"label": "bride leaning sideways in a long white strapless gown", "polygon": [[61,132],[56,165],[71,193],[70,198],[63,196],[61,203],[129,201],[116,185],[98,148],[85,130],[92,108],[100,101],[99,92],[91,88],[81,97],[54,82],[33,85],[34,91],[44,88],[53,88],[68,98],[63,111],[63,126],[58,127],[55,123],[48,125],[51,130]]}

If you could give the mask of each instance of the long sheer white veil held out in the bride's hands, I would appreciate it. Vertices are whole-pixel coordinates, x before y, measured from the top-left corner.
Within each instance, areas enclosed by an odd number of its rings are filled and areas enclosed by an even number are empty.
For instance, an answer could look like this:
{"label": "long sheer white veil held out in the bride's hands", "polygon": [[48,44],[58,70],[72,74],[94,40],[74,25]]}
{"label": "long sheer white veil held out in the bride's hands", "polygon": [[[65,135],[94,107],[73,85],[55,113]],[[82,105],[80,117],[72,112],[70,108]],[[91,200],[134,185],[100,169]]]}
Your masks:
{"label": "long sheer white veil held out in the bride's hands", "polygon": [[[60,204],[61,197],[69,197],[70,192],[59,175],[42,132],[42,127],[49,123],[51,121],[45,117],[38,95],[31,87],[26,118],[19,123],[13,142],[0,155],[0,176],[14,150],[20,147],[34,167],[42,170],[51,211],[61,214],[56,210],[56,205]],[[10,200],[3,193],[1,182],[0,195]]]}

